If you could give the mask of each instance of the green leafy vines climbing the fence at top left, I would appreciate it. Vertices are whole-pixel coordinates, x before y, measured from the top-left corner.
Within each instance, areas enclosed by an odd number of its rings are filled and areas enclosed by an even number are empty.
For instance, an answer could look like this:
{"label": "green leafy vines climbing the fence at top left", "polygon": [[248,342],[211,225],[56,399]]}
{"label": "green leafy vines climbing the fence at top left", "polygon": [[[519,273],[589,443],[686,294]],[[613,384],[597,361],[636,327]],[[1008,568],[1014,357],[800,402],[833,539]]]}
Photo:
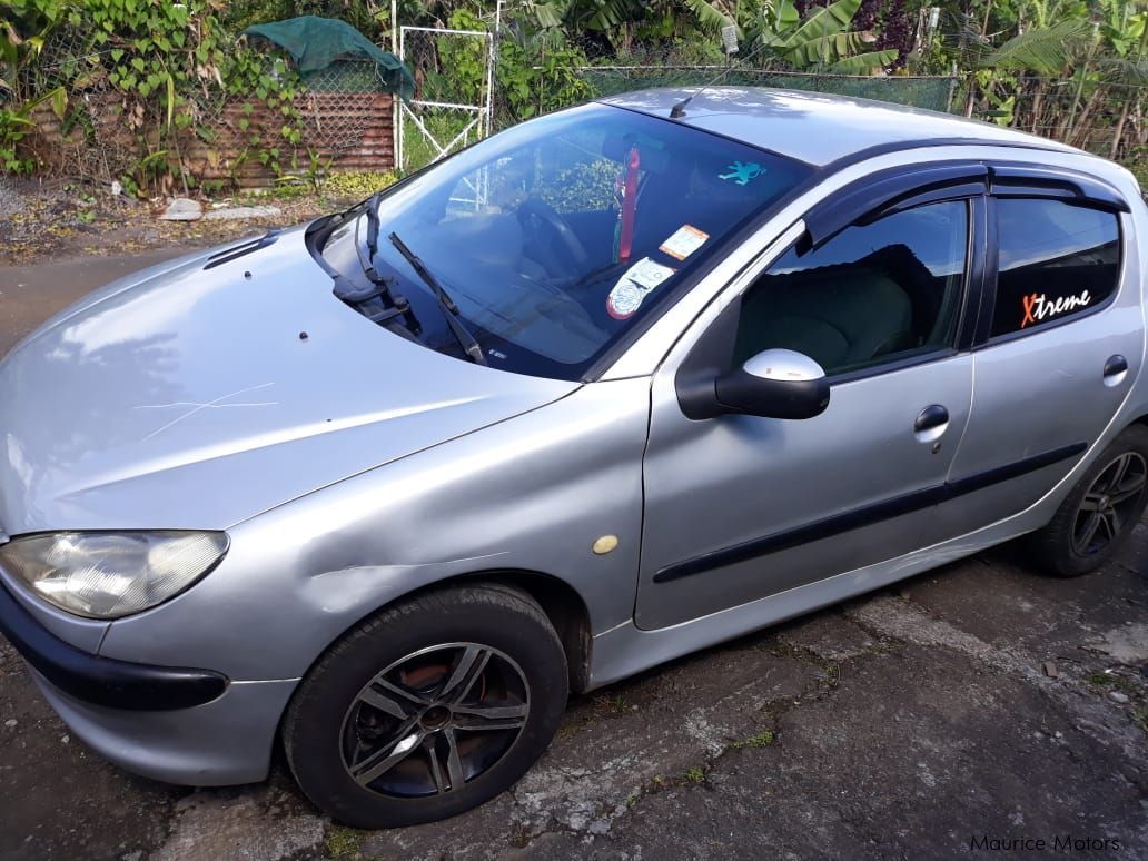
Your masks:
{"label": "green leafy vines climbing the fence at top left", "polygon": [[[282,57],[235,51],[234,31],[218,3],[165,0],[17,0],[0,20],[0,94],[18,104],[0,115],[0,147],[28,133],[31,111],[52,100],[61,131],[96,144],[93,114],[107,126],[129,130],[138,161],[119,177],[131,194],[164,191],[178,180],[184,193],[197,185],[185,150],[199,139],[207,161],[218,125],[204,122],[227,96],[246,101],[238,129],[255,158],[274,176],[297,166],[302,139],[295,99],[300,80]],[[33,34],[34,33],[34,34]],[[71,51],[40,68],[48,40],[67,33]],[[26,72],[26,73],[22,73]],[[45,83],[52,90],[36,92]],[[70,98],[80,95],[83,98]],[[91,100],[95,100],[91,104]],[[262,110],[255,111],[258,104]],[[30,172],[37,164],[5,152],[5,168]]]}

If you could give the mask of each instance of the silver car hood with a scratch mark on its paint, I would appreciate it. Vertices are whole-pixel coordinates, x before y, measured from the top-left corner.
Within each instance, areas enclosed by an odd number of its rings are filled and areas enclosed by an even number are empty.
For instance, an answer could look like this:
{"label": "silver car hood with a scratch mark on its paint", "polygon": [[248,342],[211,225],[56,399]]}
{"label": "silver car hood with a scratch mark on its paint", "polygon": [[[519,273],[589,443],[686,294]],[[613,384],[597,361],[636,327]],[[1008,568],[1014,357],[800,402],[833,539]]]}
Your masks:
{"label": "silver car hood with a scratch mark on its paint", "polygon": [[302,228],[137,273],[0,363],[0,529],[232,526],[565,396],[341,303]]}

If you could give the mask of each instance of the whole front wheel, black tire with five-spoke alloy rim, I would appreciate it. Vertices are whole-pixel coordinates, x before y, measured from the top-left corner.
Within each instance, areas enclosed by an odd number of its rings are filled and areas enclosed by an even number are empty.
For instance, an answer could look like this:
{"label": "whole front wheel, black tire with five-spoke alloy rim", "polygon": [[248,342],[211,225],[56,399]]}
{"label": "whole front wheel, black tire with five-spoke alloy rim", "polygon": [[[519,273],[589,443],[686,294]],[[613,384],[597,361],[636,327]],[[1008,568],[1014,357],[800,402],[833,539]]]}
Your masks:
{"label": "whole front wheel, black tire with five-spoke alloy rim", "polygon": [[550,744],[567,688],[561,642],[527,595],[428,592],[323,656],[287,707],[284,748],[307,797],[344,824],[433,822],[513,786]]}

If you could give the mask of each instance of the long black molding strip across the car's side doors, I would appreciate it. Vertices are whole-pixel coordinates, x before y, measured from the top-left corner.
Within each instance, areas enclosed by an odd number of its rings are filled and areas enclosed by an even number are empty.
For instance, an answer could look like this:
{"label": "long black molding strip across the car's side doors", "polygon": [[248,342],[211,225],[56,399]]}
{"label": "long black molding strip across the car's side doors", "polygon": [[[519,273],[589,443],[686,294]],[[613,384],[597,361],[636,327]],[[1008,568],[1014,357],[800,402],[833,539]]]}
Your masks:
{"label": "long black molding strip across the car's side doors", "polygon": [[863,505],[852,511],[814,520],[809,523],[802,523],[792,529],[763,535],[760,538],[751,538],[740,544],[731,544],[719,550],[712,550],[708,553],[701,553],[700,556],[667,565],[653,575],[653,582],[668,583],[673,580],[681,580],[682,577],[701,574],[714,568],[722,568],[727,565],[748,561],[761,556],[776,553],[781,550],[789,550],[810,541],[829,538],[833,535],[860,529],[863,526],[871,526],[882,520],[909,514],[921,509],[928,509],[967,494],[976,492],[977,490],[984,490],[993,484],[1010,481],[1030,472],[1042,470],[1046,466],[1052,466],[1053,464],[1081,455],[1087,449],[1088,444],[1085,442],[1062,445],[1061,448],[1022,458],[1010,464],[995,466],[992,470],[974,473],[956,481],[946,481],[944,484],[934,484],[922,490],[915,490],[912,494],[882,499],[881,502]]}

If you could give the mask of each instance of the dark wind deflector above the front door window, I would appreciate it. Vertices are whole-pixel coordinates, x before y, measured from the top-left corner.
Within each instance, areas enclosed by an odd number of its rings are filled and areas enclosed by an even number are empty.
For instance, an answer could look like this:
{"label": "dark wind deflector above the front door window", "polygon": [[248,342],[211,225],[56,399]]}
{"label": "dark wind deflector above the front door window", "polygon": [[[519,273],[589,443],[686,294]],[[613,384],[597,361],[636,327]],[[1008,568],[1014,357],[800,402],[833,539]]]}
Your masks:
{"label": "dark wind deflector above the front door window", "polygon": [[822,245],[864,216],[876,218],[918,203],[983,194],[988,169],[979,163],[932,164],[875,173],[831,194],[806,216],[806,250]]}

